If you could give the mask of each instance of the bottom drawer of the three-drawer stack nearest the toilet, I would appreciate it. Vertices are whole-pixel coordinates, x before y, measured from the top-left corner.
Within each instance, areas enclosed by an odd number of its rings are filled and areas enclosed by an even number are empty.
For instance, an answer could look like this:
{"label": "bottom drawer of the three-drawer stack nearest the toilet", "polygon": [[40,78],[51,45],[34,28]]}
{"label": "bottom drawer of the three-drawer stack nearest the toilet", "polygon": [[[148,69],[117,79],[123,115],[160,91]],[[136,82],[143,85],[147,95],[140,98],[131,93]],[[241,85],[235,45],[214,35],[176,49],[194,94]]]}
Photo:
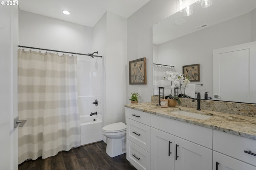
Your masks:
{"label": "bottom drawer of the three-drawer stack nearest the toilet", "polygon": [[126,141],[126,159],[138,170],[150,170],[150,153],[129,140]]}

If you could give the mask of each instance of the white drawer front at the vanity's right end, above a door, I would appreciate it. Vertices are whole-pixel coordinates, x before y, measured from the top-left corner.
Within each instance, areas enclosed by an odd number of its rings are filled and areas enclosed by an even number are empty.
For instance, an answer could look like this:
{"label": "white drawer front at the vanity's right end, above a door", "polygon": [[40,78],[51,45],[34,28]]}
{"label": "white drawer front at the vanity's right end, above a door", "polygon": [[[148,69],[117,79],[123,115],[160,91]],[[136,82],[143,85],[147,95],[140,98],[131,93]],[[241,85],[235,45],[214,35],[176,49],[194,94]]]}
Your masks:
{"label": "white drawer front at the vanity's right end, above a door", "polygon": [[213,150],[256,166],[256,156],[244,152],[256,154],[256,140],[216,130],[213,135]]}

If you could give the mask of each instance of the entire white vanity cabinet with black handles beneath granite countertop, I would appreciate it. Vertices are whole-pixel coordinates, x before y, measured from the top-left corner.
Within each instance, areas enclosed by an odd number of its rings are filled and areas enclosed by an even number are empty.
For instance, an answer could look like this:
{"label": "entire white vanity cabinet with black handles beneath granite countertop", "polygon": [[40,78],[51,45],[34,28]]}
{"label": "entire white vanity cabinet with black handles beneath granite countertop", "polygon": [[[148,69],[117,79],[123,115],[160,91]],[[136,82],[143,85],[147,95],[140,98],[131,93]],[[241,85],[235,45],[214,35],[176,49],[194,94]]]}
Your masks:
{"label": "entire white vanity cabinet with black handles beneath granite countertop", "polygon": [[138,170],[256,170],[256,140],[164,116],[126,107],[126,158]]}

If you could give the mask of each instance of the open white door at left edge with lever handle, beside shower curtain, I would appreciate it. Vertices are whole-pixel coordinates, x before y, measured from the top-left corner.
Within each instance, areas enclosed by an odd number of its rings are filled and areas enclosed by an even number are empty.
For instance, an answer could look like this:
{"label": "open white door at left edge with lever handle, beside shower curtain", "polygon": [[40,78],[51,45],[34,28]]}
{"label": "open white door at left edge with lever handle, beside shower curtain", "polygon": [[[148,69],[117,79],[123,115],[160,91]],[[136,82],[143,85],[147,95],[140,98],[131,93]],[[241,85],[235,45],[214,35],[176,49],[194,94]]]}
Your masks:
{"label": "open white door at left edge with lever handle, beside shower curtain", "polygon": [[0,169],[18,170],[18,6],[0,6]]}

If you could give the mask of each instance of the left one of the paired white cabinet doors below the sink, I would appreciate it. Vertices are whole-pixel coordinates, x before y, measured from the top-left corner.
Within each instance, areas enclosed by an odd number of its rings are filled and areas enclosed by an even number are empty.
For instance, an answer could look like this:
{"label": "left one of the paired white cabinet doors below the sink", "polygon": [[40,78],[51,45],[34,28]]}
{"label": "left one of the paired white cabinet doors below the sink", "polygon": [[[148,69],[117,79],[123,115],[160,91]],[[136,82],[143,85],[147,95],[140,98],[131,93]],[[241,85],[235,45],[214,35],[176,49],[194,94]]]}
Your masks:
{"label": "left one of the paired white cabinet doors below the sink", "polygon": [[175,137],[151,127],[151,170],[174,170]]}

